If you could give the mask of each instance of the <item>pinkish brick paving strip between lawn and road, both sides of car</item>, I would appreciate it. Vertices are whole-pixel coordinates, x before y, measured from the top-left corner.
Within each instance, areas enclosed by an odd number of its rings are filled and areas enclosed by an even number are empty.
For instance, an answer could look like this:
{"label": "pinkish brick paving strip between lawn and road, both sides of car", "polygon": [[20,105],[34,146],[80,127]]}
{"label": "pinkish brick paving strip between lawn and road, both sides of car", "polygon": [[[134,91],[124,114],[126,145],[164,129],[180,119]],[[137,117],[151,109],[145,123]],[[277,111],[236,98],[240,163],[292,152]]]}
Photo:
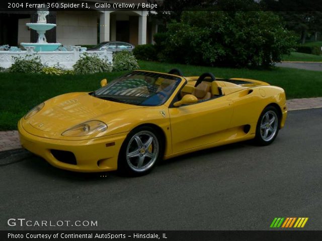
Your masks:
{"label": "pinkish brick paving strip between lawn and road, both sides of car", "polygon": [[[322,108],[322,97],[287,100],[288,110]],[[18,131],[0,132],[0,152],[21,148]]]}

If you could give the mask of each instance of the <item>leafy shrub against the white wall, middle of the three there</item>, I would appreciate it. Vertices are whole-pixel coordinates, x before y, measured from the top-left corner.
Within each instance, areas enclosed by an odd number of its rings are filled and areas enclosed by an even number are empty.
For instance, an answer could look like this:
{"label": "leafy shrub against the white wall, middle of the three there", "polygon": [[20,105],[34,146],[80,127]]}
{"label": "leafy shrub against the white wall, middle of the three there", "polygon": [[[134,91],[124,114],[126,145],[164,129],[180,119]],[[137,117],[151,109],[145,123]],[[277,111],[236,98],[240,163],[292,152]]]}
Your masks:
{"label": "leafy shrub against the white wall, middle of the three there", "polygon": [[74,72],[77,74],[94,74],[101,72],[111,72],[112,67],[107,59],[103,60],[98,55],[84,55],[73,65]]}

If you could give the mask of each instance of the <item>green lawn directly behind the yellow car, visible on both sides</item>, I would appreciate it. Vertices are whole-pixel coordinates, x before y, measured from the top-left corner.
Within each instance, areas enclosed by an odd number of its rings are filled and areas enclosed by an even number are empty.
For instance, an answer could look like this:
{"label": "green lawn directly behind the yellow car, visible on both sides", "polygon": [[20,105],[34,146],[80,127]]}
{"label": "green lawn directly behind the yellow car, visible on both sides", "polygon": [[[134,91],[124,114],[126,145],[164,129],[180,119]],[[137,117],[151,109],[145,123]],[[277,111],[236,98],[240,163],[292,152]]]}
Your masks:
{"label": "green lawn directly behind the yellow car, visible on both sides", "polygon": [[[186,76],[199,76],[204,72],[212,72],[215,76],[223,78],[241,77],[263,80],[284,88],[287,98],[322,96],[321,72],[317,71],[289,68],[271,70],[212,68],[144,61],[140,61],[139,64],[142,69],[159,72],[168,72],[175,67],[180,68]],[[19,118],[46,99],[67,92],[97,89],[100,87],[101,79],[112,80],[123,73],[62,76],[0,73],[0,86],[3,90],[0,101],[0,130],[16,130]]]}

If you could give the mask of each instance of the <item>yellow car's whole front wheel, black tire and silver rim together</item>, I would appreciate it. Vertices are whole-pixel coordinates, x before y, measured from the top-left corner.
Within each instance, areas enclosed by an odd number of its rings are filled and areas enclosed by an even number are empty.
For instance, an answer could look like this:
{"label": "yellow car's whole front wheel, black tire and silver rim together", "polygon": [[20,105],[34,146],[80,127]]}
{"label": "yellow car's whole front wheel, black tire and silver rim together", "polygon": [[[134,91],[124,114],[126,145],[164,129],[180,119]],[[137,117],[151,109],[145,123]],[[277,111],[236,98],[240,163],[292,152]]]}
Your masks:
{"label": "yellow car's whole front wheel, black tire and silver rim together", "polygon": [[150,126],[137,127],[122,144],[118,156],[118,171],[128,176],[146,175],[162,159],[163,154],[162,135]]}

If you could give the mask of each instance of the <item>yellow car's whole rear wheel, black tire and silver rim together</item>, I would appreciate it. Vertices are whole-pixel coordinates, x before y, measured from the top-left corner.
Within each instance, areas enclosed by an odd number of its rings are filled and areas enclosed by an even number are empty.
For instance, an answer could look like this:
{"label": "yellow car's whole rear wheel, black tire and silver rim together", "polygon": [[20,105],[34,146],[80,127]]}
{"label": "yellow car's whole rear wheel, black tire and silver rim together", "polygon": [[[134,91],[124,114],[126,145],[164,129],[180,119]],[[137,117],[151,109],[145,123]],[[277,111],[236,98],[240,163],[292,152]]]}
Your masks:
{"label": "yellow car's whole rear wheel, black tire and silver rim together", "polygon": [[270,145],[277,137],[279,125],[280,115],[276,107],[272,105],[265,107],[257,122],[255,143],[259,146]]}

